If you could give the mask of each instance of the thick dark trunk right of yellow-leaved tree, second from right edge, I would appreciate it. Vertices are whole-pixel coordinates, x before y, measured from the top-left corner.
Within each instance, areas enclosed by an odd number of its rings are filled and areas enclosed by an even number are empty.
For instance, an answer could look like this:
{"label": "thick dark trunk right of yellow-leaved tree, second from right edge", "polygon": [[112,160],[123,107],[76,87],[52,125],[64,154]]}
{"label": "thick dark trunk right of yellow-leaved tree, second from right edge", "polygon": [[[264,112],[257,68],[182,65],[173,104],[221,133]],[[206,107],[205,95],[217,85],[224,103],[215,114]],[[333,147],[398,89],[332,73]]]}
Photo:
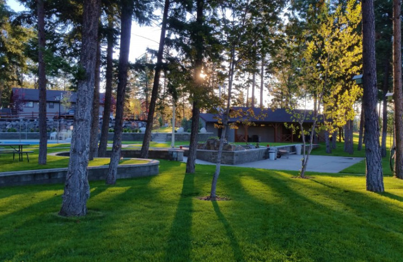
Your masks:
{"label": "thick dark trunk right of yellow-leaved tree, second from right edge", "polygon": [[366,188],[383,192],[382,160],[379,149],[379,123],[376,87],[375,16],[373,0],[362,1],[363,81],[364,81],[364,143],[366,157]]}

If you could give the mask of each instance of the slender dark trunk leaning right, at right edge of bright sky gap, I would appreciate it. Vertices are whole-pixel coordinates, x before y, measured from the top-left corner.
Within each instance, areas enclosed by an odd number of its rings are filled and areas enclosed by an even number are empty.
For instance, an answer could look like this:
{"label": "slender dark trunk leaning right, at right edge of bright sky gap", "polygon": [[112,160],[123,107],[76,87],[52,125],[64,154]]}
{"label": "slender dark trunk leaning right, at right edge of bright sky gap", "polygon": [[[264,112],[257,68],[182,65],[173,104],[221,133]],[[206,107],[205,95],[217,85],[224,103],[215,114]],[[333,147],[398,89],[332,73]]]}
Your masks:
{"label": "slender dark trunk leaning right, at right edge of bright sky gap", "polygon": [[162,55],[163,55],[164,46],[165,46],[165,34],[166,34],[166,28],[167,28],[168,10],[169,10],[169,0],[165,0],[164,13],[162,16],[160,45],[158,48],[157,64],[155,67],[153,90],[151,91],[150,108],[148,111],[146,132],[145,132],[144,138],[143,138],[143,146],[140,151],[140,158],[147,158],[148,150],[150,148],[151,130],[153,128],[155,106],[157,103],[158,89],[160,86],[160,75],[161,75],[161,69],[162,69]]}

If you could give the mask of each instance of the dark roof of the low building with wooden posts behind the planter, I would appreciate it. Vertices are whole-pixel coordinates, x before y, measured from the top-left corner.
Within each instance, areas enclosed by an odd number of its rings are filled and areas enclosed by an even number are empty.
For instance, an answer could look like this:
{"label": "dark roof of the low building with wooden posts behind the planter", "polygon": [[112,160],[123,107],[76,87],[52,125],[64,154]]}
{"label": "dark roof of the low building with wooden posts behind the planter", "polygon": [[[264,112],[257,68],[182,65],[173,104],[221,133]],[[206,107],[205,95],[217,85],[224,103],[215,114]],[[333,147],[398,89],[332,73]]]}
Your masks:
{"label": "dark roof of the low building with wooden posts behind the planter", "polygon": [[[304,122],[311,123],[313,120],[310,115],[312,115],[312,110],[295,110],[298,113],[306,113],[306,120]],[[232,107],[231,113],[233,117],[230,117],[229,122],[236,121],[249,121],[249,122],[295,122],[291,114],[289,114],[285,108],[251,108],[251,107]],[[207,123],[217,123],[218,114],[212,113],[200,113],[200,118],[205,120]],[[323,120],[320,120],[323,121]]]}

